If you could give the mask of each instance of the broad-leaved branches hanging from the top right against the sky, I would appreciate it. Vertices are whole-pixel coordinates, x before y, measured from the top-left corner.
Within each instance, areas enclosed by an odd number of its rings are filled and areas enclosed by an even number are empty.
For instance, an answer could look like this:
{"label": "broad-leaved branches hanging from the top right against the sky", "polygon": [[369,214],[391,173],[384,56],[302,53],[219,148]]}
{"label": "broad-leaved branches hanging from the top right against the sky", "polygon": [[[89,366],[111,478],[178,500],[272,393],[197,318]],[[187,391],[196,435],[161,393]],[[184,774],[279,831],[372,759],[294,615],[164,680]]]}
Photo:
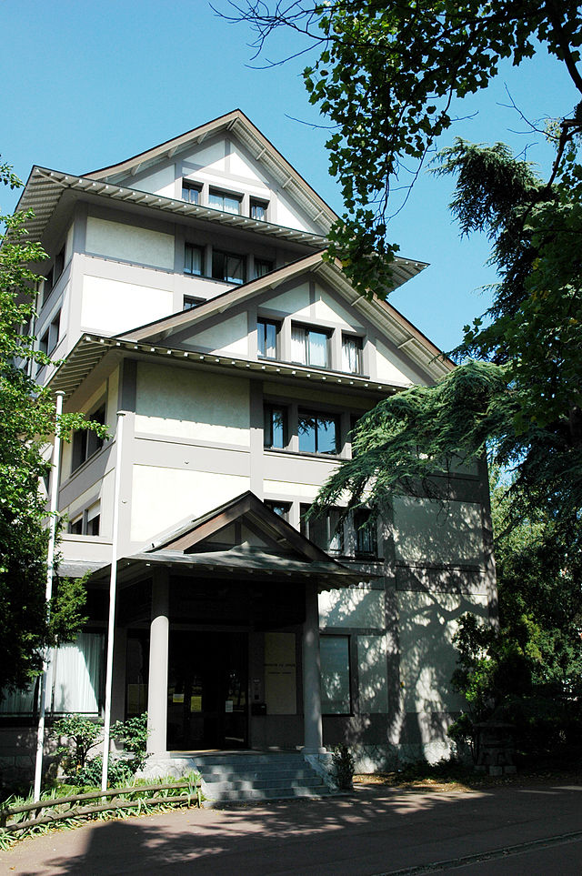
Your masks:
{"label": "broad-leaved branches hanging from the top right against the sky", "polygon": [[[395,181],[398,188],[406,179],[412,185],[437,137],[453,124],[455,98],[486,88],[502,59],[520,65],[537,43],[564,63],[582,94],[576,66],[582,13],[575,0],[231,5],[254,27],[257,51],[277,27],[287,26],[320,52],[304,78],[310,103],[332,129],[330,169],[345,203],[330,235],[330,257],[343,260],[363,294],[374,290],[382,297],[391,287],[397,249],[386,240],[391,190]],[[559,140],[565,128],[558,127]]]}

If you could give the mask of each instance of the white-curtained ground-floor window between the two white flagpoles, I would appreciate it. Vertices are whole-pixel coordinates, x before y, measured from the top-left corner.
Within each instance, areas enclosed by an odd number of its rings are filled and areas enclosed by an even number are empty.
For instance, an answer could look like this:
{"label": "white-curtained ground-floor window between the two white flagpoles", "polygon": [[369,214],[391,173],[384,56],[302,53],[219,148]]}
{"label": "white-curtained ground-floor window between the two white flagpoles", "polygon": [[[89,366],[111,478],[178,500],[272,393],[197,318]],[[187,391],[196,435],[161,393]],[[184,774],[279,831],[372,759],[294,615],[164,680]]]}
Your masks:
{"label": "white-curtained ground-floor window between the two white flagpoles", "polygon": [[75,642],[55,650],[54,712],[98,713],[102,657],[101,633],[79,633]]}

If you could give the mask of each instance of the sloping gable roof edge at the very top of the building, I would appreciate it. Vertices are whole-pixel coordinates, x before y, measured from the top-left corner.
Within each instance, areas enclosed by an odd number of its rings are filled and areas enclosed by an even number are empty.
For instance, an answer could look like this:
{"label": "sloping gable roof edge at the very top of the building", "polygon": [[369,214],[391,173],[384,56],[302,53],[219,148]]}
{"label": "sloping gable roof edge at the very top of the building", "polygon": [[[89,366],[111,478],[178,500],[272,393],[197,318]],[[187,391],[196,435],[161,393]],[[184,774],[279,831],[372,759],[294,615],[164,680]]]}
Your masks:
{"label": "sloping gable roof edge at the very top of the building", "polygon": [[131,158],[126,158],[118,164],[101,167],[91,173],[85,174],[87,179],[114,181],[117,177],[135,176],[148,166],[156,164],[161,158],[173,157],[185,152],[192,146],[202,143],[206,137],[214,136],[223,132],[233,133],[244,146],[250,151],[256,161],[262,164],[270,176],[275,177],[280,186],[297,201],[308,216],[321,224],[326,231],[336,221],[337,215],[326,204],[324,199],[317,195],[306,180],[289,164],[284,156],[273,146],[266,136],[253,125],[251,120],[240,109],[234,109],[225,116],[218,116],[205,125],[200,125],[187,131],[186,134],[166,140],[165,143],[147,149]]}

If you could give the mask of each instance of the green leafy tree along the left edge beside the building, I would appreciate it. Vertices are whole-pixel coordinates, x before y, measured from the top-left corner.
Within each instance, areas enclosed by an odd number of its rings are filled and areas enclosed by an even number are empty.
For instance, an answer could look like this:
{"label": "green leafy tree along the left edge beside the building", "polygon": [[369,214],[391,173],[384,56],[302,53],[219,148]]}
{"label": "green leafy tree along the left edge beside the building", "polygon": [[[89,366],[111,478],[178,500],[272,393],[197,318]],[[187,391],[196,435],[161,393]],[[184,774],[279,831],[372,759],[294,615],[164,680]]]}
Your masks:
{"label": "green leafy tree along the left edge beside the building", "polygon": [[[0,166],[0,179],[11,188],[22,185],[7,165]],[[50,473],[45,451],[55,432],[55,404],[26,368],[50,362],[27,333],[40,279],[30,266],[45,258],[27,238],[29,217],[0,216],[0,697],[2,689],[27,687],[42,668],[45,647],[73,638],[84,620],[83,582],[57,577],[50,612],[45,604],[48,529],[39,484]],[[66,414],[59,430],[66,439],[87,425],[81,415]]]}

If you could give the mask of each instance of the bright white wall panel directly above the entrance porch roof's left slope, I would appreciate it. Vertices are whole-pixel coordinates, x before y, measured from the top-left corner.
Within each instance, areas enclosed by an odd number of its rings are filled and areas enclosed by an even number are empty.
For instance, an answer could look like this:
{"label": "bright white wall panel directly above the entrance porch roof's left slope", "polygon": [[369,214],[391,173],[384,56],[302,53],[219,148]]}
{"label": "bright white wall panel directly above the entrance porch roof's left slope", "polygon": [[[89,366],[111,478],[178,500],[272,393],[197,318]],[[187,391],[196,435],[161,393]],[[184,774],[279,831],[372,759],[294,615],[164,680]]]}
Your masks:
{"label": "bright white wall panel directly above the entrance porch roof's left slope", "polygon": [[131,540],[154,537],[191,517],[196,519],[249,488],[249,478],[162,466],[133,468]]}

